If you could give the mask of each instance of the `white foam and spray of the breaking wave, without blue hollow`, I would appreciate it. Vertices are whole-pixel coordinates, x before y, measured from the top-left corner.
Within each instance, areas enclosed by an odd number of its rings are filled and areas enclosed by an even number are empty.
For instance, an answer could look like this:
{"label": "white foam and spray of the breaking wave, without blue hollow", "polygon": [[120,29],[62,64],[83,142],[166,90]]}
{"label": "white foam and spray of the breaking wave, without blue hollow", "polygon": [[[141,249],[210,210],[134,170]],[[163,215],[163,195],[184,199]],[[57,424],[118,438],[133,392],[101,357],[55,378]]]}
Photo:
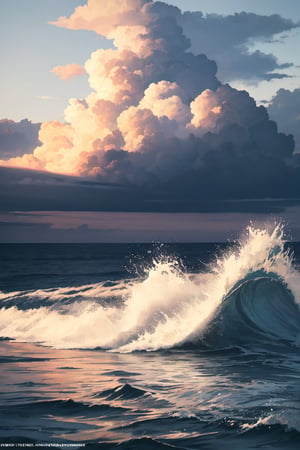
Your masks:
{"label": "white foam and spray of the breaking wave, without blue hollow", "polygon": [[[187,274],[176,261],[154,261],[142,280],[120,282],[119,292],[114,286],[121,304],[99,301],[112,294],[103,283],[76,290],[27,292],[28,301],[31,296],[48,295],[51,306],[2,307],[0,335],[56,348],[103,347],[122,352],[170,348],[204,335],[224,298],[258,273],[281,280],[292,301],[299,304],[299,274],[284,249],[283,236],[281,225],[273,229],[249,226],[244,238],[206,273]],[[12,301],[11,293],[7,299]],[[1,304],[7,299],[2,294]]]}

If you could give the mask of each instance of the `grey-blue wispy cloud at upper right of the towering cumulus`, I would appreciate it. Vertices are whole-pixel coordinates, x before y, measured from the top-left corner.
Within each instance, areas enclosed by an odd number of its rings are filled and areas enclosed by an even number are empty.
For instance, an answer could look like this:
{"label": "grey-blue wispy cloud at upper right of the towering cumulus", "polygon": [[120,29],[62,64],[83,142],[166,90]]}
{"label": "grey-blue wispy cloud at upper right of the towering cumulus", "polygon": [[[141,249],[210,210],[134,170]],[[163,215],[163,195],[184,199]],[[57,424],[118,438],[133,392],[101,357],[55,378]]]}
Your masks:
{"label": "grey-blue wispy cloud at upper right of the towering cumulus", "polygon": [[257,42],[273,41],[280,33],[300,26],[290,19],[247,12],[230,16],[185,12],[178,20],[191,41],[193,53],[205,53],[214,59],[223,82],[285,78],[288,75],[282,70],[293,65],[280,64],[272,54],[251,50]]}

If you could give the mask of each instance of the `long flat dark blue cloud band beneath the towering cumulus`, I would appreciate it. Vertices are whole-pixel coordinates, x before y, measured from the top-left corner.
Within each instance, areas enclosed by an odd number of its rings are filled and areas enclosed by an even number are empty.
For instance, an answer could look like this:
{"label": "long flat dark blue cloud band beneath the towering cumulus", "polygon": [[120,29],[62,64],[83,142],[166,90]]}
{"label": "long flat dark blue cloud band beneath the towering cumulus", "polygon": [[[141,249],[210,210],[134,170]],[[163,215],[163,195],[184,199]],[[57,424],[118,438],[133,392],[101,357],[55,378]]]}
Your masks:
{"label": "long flat dark blue cloud band beneath the towering cumulus", "polygon": [[[212,182],[214,176],[212,174]],[[204,182],[205,187],[205,182]],[[300,201],[292,199],[226,199],[207,190],[100,183],[36,170],[0,167],[0,211],[202,212],[276,214]],[[299,194],[299,192],[298,192]]]}

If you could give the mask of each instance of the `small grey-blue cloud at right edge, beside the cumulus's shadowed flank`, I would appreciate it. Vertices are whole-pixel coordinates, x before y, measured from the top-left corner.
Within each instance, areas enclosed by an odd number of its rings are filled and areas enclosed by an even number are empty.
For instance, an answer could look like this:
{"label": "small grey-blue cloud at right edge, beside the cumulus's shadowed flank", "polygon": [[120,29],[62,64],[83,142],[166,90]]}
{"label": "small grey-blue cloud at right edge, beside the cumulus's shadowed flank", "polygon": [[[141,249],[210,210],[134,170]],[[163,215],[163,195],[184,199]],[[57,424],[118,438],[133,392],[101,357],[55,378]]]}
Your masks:
{"label": "small grey-blue cloud at right edge, beside the cumulus's shadowed flank", "polygon": [[280,89],[272,98],[268,112],[281,131],[293,134],[296,151],[300,152],[300,88]]}

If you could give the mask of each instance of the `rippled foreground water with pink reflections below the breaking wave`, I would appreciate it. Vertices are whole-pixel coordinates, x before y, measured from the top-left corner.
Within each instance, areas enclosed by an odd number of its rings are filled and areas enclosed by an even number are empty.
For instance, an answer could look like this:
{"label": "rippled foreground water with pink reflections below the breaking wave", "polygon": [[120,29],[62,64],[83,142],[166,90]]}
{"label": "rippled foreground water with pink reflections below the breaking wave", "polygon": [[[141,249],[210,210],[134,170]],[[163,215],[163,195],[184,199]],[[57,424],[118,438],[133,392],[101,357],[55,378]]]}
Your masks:
{"label": "rippled foreground water with pink reflections below the breaking wave", "polygon": [[183,446],[188,440],[197,448],[233,432],[244,439],[259,420],[258,426],[300,429],[296,353],[117,354],[9,341],[0,347],[2,440],[153,437]]}

